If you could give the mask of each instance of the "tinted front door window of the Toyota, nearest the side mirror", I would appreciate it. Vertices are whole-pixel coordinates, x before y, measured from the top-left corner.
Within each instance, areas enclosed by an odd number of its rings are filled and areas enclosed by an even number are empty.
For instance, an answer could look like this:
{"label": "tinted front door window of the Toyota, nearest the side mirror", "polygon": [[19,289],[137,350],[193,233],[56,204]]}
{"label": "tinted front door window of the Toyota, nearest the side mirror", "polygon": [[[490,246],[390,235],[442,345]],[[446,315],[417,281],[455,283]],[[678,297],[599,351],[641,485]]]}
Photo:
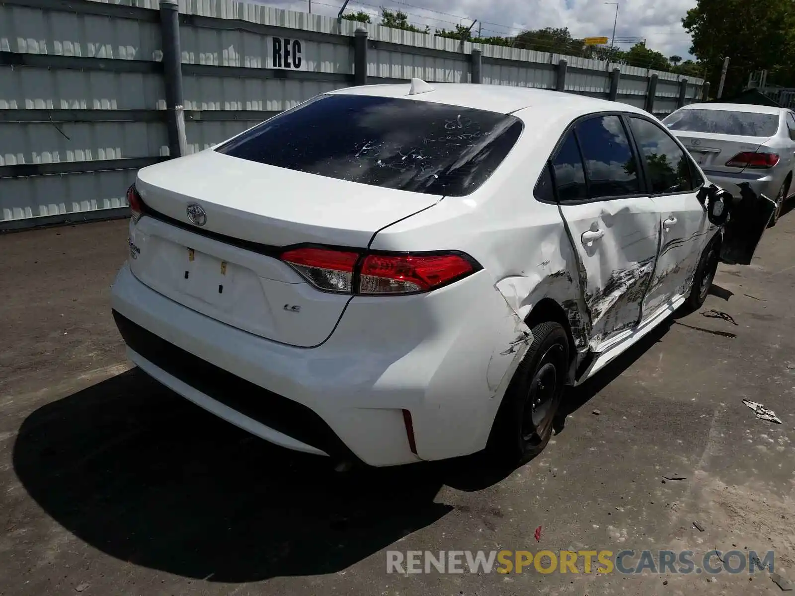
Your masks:
{"label": "tinted front door window of the Toyota, nearest the side mirror", "polygon": [[630,126],[646,158],[652,194],[692,191],[690,161],[676,141],[665,130],[642,118],[630,118]]}

